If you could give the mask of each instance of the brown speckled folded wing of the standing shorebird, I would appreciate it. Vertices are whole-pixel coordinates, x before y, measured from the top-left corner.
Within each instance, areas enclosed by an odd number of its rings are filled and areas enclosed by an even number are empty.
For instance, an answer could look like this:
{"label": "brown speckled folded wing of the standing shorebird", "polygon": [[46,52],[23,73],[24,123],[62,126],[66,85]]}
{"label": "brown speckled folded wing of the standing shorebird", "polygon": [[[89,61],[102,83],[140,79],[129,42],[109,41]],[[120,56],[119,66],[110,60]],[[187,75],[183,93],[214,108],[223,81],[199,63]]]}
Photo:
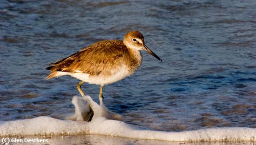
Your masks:
{"label": "brown speckled folded wing of the standing shorebird", "polygon": [[121,63],[128,49],[121,40],[105,40],[96,42],[91,46],[81,49],[79,52],[67,58],[60,59],[47,67],[53,72],[83,72],[89,74],[107,74]]}

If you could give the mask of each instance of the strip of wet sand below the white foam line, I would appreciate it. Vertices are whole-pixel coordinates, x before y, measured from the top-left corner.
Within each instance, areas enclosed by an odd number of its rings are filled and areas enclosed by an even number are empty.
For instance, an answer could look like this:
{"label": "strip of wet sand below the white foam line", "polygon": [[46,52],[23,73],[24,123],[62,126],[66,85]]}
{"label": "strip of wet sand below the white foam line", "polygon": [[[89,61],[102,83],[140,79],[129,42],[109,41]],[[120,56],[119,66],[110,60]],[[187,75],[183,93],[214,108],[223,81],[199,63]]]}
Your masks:
{"label": "strip of wet sand below the white foam line", "polygon": [[[13,138],[13,137],[11,137]],[[10,138],[10,139],[11,139]],[[23,136],[23,143],[15,145],[255,145],[256,142],[173,142],[161,140],[142,140],[133,138],[119,138],[102,135],[63,135],[63,136]],[[47,139],[47,143],[24,143],[24,138]]]}

